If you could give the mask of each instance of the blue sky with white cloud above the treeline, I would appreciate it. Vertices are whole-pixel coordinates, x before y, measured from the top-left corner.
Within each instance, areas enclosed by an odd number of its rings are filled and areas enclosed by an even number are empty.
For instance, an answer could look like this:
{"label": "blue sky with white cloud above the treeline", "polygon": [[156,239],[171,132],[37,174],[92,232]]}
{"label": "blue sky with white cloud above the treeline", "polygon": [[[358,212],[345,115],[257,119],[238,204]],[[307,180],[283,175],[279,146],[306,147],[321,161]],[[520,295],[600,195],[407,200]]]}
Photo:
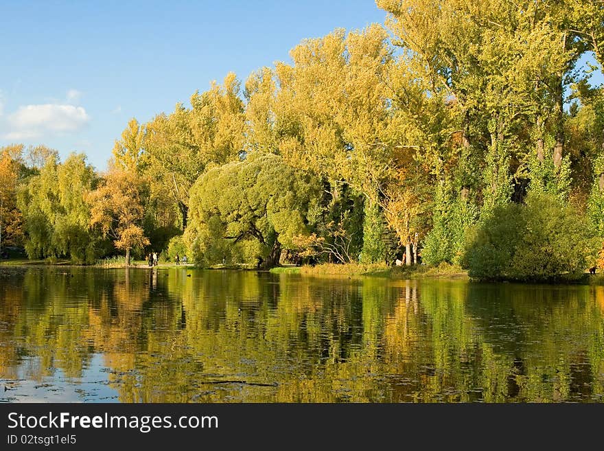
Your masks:
{"label": "blue sky with white cloud above the treeline", "polygon": [[2,1],[0,146],[85,152],[103,170],[128,119],[188,104],[303,38],[383,23],[373,0]]}

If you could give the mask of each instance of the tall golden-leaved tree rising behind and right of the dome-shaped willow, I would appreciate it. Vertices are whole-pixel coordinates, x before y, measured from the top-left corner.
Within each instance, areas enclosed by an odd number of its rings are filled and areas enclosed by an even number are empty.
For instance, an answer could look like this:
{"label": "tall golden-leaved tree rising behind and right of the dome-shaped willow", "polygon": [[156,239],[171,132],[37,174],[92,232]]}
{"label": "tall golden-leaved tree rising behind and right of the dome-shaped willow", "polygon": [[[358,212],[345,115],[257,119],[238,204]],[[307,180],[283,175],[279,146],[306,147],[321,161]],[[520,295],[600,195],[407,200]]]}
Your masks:
{"label": "tall golden-leaved tree rising behind and right of the dome-shaped willow", "polygon": [[[365,262],[384,261],[380,196],[399,133],[388,87],[394,58],[386,32],[380,25],[349,34],[335,30],[303,41],[290,55],[291,65],[262,69],[246,84],[250,146],[278,152],[290,165],[322,178],[329,189],[325,211],[340,203],[344,186],[362,196],[360,255]],[[340,223],[326,216],[325,224],[332,221]]]}

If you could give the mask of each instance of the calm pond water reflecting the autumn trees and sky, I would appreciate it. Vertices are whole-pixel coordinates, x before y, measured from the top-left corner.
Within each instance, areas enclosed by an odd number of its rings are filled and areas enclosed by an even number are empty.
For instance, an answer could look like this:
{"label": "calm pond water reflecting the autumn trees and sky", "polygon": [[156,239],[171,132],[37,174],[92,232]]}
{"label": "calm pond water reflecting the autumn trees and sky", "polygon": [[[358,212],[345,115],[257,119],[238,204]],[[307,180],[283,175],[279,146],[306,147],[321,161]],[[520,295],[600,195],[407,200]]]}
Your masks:
{"label": "calm pond water reflecting the autumn trees and sky", "polygon": [[604,287],[0,268],[3,402],[602,402]]}

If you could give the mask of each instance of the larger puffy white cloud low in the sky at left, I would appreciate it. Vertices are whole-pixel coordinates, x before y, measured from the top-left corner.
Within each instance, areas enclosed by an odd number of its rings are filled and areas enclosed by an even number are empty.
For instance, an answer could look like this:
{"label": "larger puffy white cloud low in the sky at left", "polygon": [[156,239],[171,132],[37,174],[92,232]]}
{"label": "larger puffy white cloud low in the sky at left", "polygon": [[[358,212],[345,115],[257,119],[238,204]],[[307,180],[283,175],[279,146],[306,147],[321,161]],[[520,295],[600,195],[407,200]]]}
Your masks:
{"label": "larger puffy white cloud low in the sky at left", "polygon": [[30,139],[47,132],[63,134],[80,130],[90,121],[82,106],[41,104],[21,106],[7,117],[6,139]]}

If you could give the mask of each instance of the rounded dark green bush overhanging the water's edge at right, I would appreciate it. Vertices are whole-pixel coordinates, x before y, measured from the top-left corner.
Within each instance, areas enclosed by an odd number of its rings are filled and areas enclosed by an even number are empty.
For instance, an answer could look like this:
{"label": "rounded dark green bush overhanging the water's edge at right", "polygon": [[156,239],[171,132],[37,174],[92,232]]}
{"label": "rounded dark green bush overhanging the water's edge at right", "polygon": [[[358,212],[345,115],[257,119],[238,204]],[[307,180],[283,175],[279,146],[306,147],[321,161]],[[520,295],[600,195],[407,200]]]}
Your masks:
{"label": "rounded dark green bush overhanging the water's edge at right", "polygon": [[552,194],[497,207],[474,231],[465,255],[480,280],[577,280],[595,261],[599,240],[587,218]]}

